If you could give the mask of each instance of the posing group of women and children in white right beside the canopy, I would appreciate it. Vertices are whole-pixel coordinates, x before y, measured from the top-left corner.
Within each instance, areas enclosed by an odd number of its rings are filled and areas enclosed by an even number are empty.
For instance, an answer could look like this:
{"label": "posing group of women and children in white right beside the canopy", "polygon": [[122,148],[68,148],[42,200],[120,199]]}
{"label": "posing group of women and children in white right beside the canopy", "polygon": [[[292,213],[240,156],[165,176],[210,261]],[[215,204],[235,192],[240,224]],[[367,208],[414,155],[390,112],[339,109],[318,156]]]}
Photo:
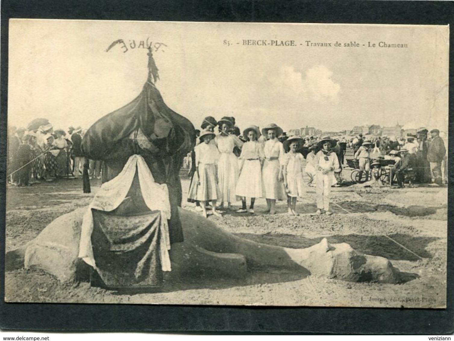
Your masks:
{"label": "posing group of women and children in white right beside the canopy", "polygon": [[[217,121],[208,116],[201,128],[191,153],[188,201],[195,202],[204,216],[210,203],[212,214],[218,216],[217,208],[254,213],[256,198],[266,199],[270,214],[276,213],[276,201],[286,200],[288,213],[296,215],[296,199],[305,194],[303,173],[309,175],[310,185],[316,184],[316,214],[331,214],[330,189],[337,183],[335,174],[341,172],[339,160],[345,155],[342,147],[337,154],[334,151],[339,141],[329,136],[312,137],[303,149],[304,138],[286,136],[274,123],[262,129],[252,125],[241,134],[233,117]],[[305,156],[310,160],[306,167]],[[237,201],[242,207],[232,208]]]}

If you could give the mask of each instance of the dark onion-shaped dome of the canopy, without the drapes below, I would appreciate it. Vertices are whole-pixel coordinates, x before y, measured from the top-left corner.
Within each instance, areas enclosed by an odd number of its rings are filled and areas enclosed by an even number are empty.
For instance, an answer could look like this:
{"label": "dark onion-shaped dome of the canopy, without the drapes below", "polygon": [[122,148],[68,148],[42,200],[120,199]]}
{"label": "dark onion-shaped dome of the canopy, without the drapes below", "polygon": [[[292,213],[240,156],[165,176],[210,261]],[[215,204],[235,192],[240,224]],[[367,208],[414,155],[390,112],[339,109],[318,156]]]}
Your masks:
{"label": "dark onion-shaped dome of the canopy, without the drapes below", "polygon": [[[184,155],[195,143],[192,123],[168,108],[156,86],[146,82],[136,99],[99,119],[87,130],[82,152],[92,160],[110,160],[113,156],[118,160],[118,143],[139,130],[150,142],[148,152],[154,155]],[[122,159],[127,160],[135,152],[141,153],[134,150],[133,145],[123,149]]]}

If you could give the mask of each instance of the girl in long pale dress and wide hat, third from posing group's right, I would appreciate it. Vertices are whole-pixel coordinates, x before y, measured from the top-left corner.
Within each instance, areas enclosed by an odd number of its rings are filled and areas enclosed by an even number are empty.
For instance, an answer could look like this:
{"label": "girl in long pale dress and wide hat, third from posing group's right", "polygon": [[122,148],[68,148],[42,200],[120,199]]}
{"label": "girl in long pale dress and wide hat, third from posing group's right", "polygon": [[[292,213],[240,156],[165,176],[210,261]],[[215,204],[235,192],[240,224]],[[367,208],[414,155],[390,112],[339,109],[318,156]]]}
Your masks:
{"label": "girl in long pale dress and wide hat, third from posing group's right", "polygon": [[268,124],[262,129],[262,134],[268,136],[264,144],[265,162],[262,169],[263,194],[266,198],[267,210],[270,214],[276,213],[276,200],[285,200],[284,176],[282,164],[284,147],[277,139],[282,129],[276,124]]}

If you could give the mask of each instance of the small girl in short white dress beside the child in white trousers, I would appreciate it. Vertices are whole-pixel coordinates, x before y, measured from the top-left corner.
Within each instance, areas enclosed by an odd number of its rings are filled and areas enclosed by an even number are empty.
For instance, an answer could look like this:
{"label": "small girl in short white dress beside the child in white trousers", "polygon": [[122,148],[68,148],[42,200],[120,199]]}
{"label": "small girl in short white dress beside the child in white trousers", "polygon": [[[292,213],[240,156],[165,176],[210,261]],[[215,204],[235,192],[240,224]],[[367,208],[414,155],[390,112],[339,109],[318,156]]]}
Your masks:
{"label": "small girl in short white dress beside the child in white trousers", "polygon": [[290,137],[284,142],[284,149],[288,150],[284,158],[284,185],[287,192],[288,213],[296,216],[296,198],[302,197],[303,186],[303,161],[304,157],[296,150],[302,146],[303,139]]}

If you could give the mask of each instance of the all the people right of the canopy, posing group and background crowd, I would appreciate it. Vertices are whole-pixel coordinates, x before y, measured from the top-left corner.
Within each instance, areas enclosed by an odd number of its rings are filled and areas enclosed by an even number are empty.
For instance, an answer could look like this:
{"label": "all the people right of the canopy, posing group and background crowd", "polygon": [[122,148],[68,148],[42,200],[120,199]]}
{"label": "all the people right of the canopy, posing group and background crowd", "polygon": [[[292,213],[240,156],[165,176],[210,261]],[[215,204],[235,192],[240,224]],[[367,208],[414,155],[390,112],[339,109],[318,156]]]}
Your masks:
{"label": "all the people right of the canopy, posing group and background crowd", "polygon": [[[350,139],[303,138],[287,136],[274,123],[262,129],[250,126],[241,133],[234,117],[217,121],[208,116],[197,130],[196,143],[188,156],[188,201],[196,203],[204,216],[207,209],[214,215],[225,209],[254,213],[256,198],[266,198],[270,214],[276,212],[276,200],[286,200],[288,213],[295,215],[296,198],[304,195],[307,186],[316,187],[316,214],[330,215],[330,190],[344,182],[341,172],[347,148],[357,162],[360,183],[380,179],[382,160],[392,168],[388,181],[395,180],[397,188],[403,188],[405,181],[410,185],[447,182],[446,148],[438,129],[429,133],[420,128],[417,135],[395,139],[377,136],[370,140],[362,134]],[[241,201],[241,208],[232,208],[236,201]]]}

